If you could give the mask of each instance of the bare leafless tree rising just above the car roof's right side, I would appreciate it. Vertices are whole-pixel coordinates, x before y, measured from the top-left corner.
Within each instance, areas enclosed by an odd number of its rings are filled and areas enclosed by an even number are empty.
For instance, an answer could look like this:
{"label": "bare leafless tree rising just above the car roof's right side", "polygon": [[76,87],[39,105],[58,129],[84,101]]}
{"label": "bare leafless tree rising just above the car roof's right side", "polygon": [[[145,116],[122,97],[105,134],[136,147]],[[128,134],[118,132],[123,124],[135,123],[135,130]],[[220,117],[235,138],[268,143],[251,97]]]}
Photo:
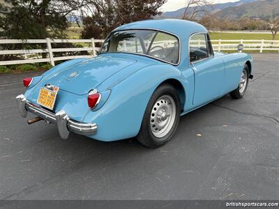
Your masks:
{"label": "bare leafless tree rising just above the car roof's right side", "polygon": [[203,16],[209,15],[212,10],[211,1],[209,0],[187,0],[182,15],[183,20],[197,20]]}

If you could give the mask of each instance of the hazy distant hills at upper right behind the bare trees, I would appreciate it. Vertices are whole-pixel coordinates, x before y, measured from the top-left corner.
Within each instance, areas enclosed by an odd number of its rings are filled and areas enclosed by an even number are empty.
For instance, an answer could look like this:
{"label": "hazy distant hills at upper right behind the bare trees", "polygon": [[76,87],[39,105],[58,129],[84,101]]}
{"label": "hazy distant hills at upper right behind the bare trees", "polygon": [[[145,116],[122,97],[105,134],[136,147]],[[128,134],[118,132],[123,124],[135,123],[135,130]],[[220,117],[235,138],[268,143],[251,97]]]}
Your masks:
{"label": "hazy distant hills at upper right behind the bare trees", "polygon": [[[270,15],[279,16],[279,0],[241,0],[229,3],[215,3],[209,8],[216,17],[239,19],[241,17],[265,19]],[[163,18],[181,18],[185,8],[165,12]]]}

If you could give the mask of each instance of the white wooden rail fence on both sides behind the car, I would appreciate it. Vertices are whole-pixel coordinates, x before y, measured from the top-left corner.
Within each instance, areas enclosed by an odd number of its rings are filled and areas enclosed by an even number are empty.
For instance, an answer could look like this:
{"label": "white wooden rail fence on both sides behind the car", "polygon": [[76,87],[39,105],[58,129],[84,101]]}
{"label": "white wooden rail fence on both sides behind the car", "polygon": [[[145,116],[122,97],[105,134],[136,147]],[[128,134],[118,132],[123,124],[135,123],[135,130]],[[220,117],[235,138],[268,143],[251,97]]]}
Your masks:
{"label": "white wooden rail fence on both sides behind the car", "polygon": [[[53,48],[52,43],[87,43],[89,47],[78,48]],[[29,39],[29,40],[0,40],[0,55],[4,54],[22,54],[21,60],[15,61],[0,61],[0,65],[15,65],[22,63],[43,63],[50,62],[54,66],[55,61],[62,61],[68,59],[75,59],[80,57],[96,56],[95,47],[96,42],[103,42],[100,39]],[[199,42],[199,40],[195,40]],[[202,41],[201,41],[202,42]],[[237,45],[240,43],[244,45],[244,51],[258,51],[260,53],[264,51],[278,51],[279,52],[279,40],[211,40],[213,50],[221,51],[236,51]],[[18,50],[1,50],[3,44],[45,44],[45,49],[18,49]],[[171,41],[167,42],[167,44]],[[54,52],[91,52],[91,55],[79,55],[79,56],[54,56]],[[38,56],[38,54],[47,53],[47,58]],[[37,56],[29,56],[30,54],[37,54]]]}

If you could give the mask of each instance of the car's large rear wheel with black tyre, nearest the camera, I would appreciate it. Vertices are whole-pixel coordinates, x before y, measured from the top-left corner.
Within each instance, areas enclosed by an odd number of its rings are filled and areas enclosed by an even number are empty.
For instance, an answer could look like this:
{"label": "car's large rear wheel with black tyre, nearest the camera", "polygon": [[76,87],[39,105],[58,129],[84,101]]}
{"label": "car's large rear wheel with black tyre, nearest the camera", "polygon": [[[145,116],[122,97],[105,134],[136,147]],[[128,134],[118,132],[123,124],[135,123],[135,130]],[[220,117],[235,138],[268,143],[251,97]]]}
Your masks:
{"label": "car's large rear wheel with black tyre, nearest the camera", "polygon": [[176,88],[170,84],[159,86],[147,104],[137,140],[150,148],[165,144],[176,130],[180,111]]}

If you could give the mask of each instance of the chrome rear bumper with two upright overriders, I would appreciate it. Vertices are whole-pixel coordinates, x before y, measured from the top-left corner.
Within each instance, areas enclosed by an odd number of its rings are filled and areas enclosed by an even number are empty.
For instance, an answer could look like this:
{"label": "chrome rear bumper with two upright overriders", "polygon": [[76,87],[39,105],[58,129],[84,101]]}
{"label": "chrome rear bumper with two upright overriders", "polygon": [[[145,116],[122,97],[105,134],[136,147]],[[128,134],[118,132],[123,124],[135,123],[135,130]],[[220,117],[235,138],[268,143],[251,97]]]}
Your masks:
{"label": "chrome rear bumper with two upright overriders", "polygon": [[67,116],[66,111],[63,109],[54,114],[51,111],[47,111],[46,109],[42,109],[34,104],[31,104],[27,101],[23,94],[18,95],[16,99],[20,115],[23,118],[26,118],[28,111],[30,111],[36,116],[43,118],[45,121],[56,123],[59,135],[62,139],[68,139],[69,132],[75,132],[83,135],[92,135],[97,132],[96,123],[80,123],[73,121]]}

